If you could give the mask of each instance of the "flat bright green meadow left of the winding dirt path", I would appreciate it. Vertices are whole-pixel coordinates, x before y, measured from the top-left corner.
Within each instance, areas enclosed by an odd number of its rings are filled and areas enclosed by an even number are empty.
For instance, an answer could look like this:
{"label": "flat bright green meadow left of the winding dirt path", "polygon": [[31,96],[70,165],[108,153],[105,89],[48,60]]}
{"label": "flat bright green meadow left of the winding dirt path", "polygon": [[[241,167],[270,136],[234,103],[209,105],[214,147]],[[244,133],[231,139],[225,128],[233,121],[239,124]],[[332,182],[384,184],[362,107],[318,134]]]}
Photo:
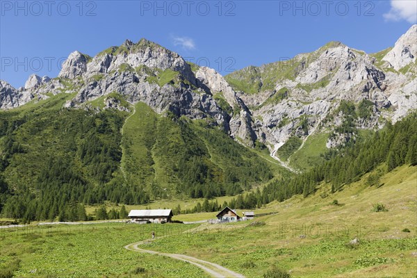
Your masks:
{"label": "flat bright green meadow left of the winding dirt path", "polygon": [[[168,225],[172,230],[182,228]],[[190,263],[124,249],[149,238],[150,226],[84,226],[0,231],[0,277],[208,277]],[[156,227],[157,235],[163,232],[159,228],[166,227]]]}

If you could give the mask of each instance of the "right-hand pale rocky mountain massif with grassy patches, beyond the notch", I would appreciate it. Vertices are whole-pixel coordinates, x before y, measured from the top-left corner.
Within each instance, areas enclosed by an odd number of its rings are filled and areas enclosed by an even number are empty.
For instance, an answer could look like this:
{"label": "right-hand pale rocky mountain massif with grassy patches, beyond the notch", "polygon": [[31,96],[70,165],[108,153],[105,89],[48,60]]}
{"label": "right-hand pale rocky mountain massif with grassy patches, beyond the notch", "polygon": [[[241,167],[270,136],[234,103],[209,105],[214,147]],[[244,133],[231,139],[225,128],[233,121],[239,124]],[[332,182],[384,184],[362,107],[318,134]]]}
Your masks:
{"label": "right-hand pale rocky mountain massif with grassy patches, beyond the notch", "polygon": [[[395,47],[373,55],[330,42],[225,79],[250,108],[248,126],[271,151],[290,138],[305,142],[314,133],[329,133],[325,145],[338,147],[355,140],[359,130],[380,129],[416,111],[416,37],[414,25]],[[351,115],[352,108],[361,113]]]}

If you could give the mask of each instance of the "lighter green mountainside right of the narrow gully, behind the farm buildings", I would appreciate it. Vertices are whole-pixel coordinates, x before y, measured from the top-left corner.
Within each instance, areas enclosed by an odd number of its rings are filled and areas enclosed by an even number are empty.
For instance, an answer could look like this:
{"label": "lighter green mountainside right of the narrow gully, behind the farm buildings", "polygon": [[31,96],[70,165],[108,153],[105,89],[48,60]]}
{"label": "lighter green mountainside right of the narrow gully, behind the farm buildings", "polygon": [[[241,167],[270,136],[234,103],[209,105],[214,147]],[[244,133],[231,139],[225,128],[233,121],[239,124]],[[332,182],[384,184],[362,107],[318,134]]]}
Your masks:
{"label": "lighter green mountainside right of the narrow gully, behind the farm buildings", "polygon": [[156,115],[145,104],[123,128],[122,168],[153,197],[236,195],[267,181],[276,167],[204,121]]}

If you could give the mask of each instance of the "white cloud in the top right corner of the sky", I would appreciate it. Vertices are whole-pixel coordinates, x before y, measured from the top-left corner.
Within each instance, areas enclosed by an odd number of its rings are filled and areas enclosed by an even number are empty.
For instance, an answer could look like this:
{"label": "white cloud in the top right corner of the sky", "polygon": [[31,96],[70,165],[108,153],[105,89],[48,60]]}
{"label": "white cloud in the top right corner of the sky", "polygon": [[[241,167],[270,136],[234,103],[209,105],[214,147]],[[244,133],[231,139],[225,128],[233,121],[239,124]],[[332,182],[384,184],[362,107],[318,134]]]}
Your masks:
{"label": "white cloud in the top right corner of the sky", "polygon": [[417,22],[416,0],[391,0],[391,10],[384,14],[386,20],[398,22],[402,19],[413,24]]}

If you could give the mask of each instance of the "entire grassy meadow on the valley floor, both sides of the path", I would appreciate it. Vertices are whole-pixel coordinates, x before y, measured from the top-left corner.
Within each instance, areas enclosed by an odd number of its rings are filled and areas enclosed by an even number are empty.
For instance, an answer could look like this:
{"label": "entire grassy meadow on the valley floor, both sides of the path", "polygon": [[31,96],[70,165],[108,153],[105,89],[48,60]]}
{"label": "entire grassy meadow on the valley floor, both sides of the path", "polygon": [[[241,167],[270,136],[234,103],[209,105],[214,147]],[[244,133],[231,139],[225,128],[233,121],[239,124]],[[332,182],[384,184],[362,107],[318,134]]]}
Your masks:
{"label": "entire grassy meadow on the valley floor, both sides of the path", "polygon": [[[329,185],[322,185],[305,199],[297,195],[255,210],[277,211],[273,215],[233,224],[3,229],[0,277],[206,277],[190,263],[124,249],[149,238],[152,230],[167,237],[142,248],[194,256],[245,277],[263,277],[273,265],[291,277],[416,277],[417,167],[398,167],[382,177],[379,188],[366,186],[365,180],[334,194]],[[387,211],[373,211],[375,204]],[[359,245],[350,245],[355,237]]]}

